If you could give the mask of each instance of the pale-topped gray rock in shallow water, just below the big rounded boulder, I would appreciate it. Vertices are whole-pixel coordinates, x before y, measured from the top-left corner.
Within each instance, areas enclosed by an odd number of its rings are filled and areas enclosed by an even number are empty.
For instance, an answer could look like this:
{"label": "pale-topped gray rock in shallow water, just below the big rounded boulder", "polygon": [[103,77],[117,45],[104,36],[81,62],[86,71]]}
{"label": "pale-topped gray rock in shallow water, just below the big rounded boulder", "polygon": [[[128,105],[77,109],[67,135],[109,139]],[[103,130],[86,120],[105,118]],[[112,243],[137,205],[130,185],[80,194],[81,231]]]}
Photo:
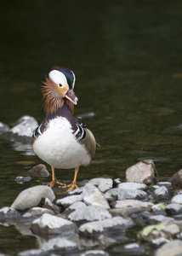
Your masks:
{"label": "pale-topped gray rock in shallow water, just below the big rounded boulder", "polygon": [[41,218],[33,221],[31,231],[34,234],[71,236],[76,232],[76,226],[65,218],[44,213]]}

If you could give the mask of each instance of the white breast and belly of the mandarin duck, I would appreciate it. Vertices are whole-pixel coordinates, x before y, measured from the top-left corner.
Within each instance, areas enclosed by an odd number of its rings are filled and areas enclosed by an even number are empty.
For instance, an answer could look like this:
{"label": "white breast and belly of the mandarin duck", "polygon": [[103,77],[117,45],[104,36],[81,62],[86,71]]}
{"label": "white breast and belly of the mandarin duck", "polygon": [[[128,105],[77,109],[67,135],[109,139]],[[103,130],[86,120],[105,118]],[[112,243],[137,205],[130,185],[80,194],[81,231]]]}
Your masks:
{"label": "white breast and belly of the mandarin duck", "polygon": [[76,141],[72,131],[67,119],[58,117],[50,120],[47,130],[33,143],[34,152],[54,168],[88,166],[90,157],[87,150]]}

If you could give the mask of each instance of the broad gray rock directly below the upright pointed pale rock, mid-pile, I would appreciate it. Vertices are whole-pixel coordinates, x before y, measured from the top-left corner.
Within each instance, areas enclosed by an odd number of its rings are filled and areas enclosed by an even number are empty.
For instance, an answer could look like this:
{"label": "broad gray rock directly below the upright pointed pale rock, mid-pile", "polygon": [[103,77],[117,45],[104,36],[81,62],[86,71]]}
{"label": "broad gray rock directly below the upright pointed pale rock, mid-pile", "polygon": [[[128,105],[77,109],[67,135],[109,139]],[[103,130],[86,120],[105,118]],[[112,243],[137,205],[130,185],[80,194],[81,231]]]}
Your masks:
{"label": "broad gray rock directly below the upright pointed pale rock, mid-pile", "polygon": [[95,221],[95,220],[103,220],[105,218],[112,218],[111,213],[105,210],[102,207],[82,207],[78,208],[76,211],[71,212],[68,215],[68,218],[72,221]]}

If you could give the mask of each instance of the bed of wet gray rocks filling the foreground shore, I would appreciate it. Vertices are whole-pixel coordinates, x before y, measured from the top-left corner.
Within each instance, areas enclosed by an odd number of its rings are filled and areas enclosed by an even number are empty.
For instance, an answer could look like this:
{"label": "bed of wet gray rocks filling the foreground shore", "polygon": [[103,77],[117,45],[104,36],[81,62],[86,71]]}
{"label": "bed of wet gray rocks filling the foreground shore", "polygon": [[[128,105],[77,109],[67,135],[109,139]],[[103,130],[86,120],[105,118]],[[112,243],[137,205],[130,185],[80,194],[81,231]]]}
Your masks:
{"label": "bed of wet gray rocks filling the foreground shore", "polygon": [[182,253],[182,191],[174,192],[170,182],[94,178],[57,198],[48,186],[38,185],[0,209],[0,223],[37,237],[38,248],[21,256],[174,256]]}

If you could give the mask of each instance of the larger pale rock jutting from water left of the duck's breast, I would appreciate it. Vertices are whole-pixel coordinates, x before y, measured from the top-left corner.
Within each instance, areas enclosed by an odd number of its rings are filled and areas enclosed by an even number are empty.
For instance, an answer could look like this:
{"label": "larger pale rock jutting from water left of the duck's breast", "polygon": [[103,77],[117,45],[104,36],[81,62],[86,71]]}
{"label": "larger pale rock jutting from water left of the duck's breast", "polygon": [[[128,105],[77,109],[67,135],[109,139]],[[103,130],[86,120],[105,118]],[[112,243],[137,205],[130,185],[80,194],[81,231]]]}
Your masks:
{"label": "larger pale rock jutting from water left of the duck's breast", "polygon": [[10,131],[20,137],[31,137],[38,126],[37,120],[28,115],[21,117],[17,123],[18,125],[15,125]]}

